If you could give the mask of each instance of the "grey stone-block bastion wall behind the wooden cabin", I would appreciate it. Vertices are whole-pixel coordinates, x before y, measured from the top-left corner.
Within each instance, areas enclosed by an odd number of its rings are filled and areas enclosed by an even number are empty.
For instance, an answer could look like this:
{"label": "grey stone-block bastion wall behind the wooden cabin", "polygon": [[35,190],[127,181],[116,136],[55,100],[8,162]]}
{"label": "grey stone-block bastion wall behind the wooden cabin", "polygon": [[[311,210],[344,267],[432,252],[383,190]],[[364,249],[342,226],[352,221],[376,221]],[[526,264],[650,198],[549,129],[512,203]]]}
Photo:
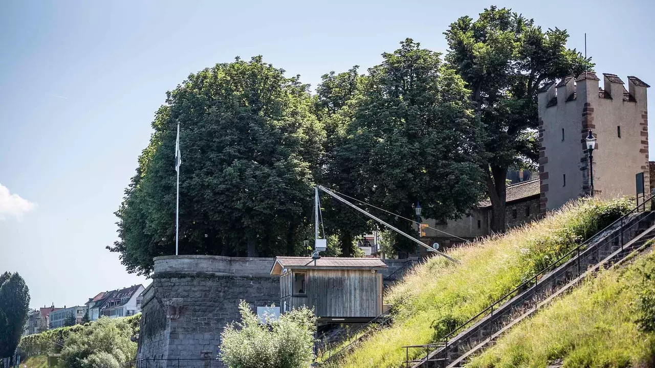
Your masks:
{"label": "grey stone-block bastion wall behind the wooden cabin", "polygon": [[[162,359],[149,368],[177,367],[177,359],[214,360],[227,323],[238,321],[238,303],[251,308],[280,304],[280,280],[271,276],[273,258],[179,255],[155,258],[152,284],[141,307],[139,359]],[[402,278],[416,263],[388,259],[384,285]],[[166,360],[170,359],[170,360]],[[207,361],[184,361],[185,367],[206,367]]]}

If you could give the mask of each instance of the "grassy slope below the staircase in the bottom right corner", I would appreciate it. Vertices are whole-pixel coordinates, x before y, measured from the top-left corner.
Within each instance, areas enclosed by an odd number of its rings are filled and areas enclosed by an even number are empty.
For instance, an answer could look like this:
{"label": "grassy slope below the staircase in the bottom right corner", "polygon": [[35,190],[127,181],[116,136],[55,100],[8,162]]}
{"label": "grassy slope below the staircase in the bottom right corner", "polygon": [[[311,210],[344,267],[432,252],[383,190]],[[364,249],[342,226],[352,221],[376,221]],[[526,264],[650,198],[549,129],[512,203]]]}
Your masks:
{"label": "grassy slope below the staircase in the bottom right corner", "polygon": [[[637,291],[640,270],[655,269],[655,253],[630,267],[608,270],[588,280],[517,325],[469,367],[655,367],[655,333],[639,331]],[[651,286],[655,287],[655,285]]]}

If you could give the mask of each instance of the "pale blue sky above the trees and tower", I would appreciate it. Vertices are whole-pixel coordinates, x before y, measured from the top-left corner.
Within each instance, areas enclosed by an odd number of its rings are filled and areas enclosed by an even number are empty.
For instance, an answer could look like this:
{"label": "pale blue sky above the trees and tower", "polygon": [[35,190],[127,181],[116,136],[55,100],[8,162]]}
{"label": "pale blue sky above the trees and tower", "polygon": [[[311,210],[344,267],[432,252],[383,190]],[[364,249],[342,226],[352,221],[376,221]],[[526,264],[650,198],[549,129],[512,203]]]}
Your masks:
{"label": "pale blue sky above the trees and tower", "polygon": [[315,86],[406,37],[443,51],[451,22],[493,3],[579,50],[587,32],[598,73],[655,85],[650,1],[0,1],[0,272],[24,276],[33,307],[149,282],[105,246],[153,115],[189,73],[262,54]]}

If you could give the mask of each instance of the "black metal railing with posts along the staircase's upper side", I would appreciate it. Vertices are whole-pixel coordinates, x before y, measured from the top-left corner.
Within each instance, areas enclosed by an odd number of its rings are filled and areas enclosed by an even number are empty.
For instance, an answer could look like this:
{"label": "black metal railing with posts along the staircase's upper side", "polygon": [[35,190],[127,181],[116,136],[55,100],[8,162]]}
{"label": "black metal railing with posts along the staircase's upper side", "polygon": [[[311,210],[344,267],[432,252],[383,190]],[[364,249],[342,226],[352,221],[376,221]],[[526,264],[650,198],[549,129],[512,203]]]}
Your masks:
{"label": "black metal railing with posts along the staircase's upper side", "polygon": [[[639,209],[643,209],[643,211],[646,211],[646,203],[649,200],[654,200],[654,199],[655,199],[654,195],[650,194],[648,197],[643,199],[643,202],[641,204],[637,204],[637,206],[635,208],[633,208],[629,212],[625,213],[624,215],[622,215],[621,217],[616,219],[614,222],[610,223],[610,225],[607,225],[607,227],[603,228],[602,230],[597,231],[590,238],[588,238],[587,240],[585,240],[581,244],[578,244],[578,246],[576,246],[575,248],[573,248],[570,251],[568,251],[567,253],[565,253],[565,255],[562,255],[561,257],[559,257],[559,259],[557,259],[556,261],[553,261],[552,263],[550,263],[550,265],[542,268],[542,270],[540,270],[539,272],[536,272],[536,274],[534,274],[534,276],[529,278],[529,280],[527,280],[527,281],[523,282],[522,284],[518,285],[517,287],[512,289],[512,291],[506,293],[505,295],[503,295],[499,299],[496,299],[496,301],[494,303],[491,303],[491,305],[487,306],[487,308],[485,308],[484,310],[482,310],[481,312],[479,312],[478,314],[476,314],[475,316],[470,318],[468,321],[462,323],[461,325],[459,325],[458,327],[453,329],[453,331],[451,331],[450,333],[448,333],[447,335],[442,337],[441,340],[443,342],[438,342],[436,344],[443,344],[443,345],[441,345],[439,347],[443,347],[444,350],[446,350],[449,347],[448,342],[452,337],[457,336],[457,334],[460,331],[462,331],[466,327],[472,325],[474,322],[477,322],[477,320],[479,320],[480,318],[483,318],[483,316],[485,316],[486,314],[489,314],[489,316],[493,317],[493,311],[494,311],[495,307],[497,309],[499,304],[503,304],[504,301],[507,301],[508,299],[512,299],[512,297],[514,297],[516,295],[519,295],[521,293],[521,291],[525,290],[526,288],[534,286],[534,294],[533,295],[536,295],[536,290],[538,288],[539,277],[543,276],[547,272],[550,272],[551,270],[554,270],[555,268],[557,268],[557,267],[563,265],[564,263],[566,263],[567,261],[569,261],[569,259],[572,258],[572,255],[574,253],[576,253],[576,257],[578,259],[578,275],[580,275],[580,272],[581,272],[581,270],[580,270],[580,252],[584,251],[586,249],[586,247],[589,246],[590,242],[597,240],[597,236],[599,236],[599,234],[603,234],[603,232],[605,232],[606,230],[611,229],[612,227],[614,227],[616,225],[619,225],[619,228],[617,230],[619,230],[620,234],[618,236],[615,236],[614,238],[612,238],[612,240],[620,237],[619,243],[620,243],[621,249],[623,250],[623,246],[624,246],[624,226],[625,226],[625,223],[626,223],[626,219],[633,216],[635,213],[639,212]],[[650,210],[652,211],[652,210],[655,210],[655,209],[650,208]],[[637,225],[639,225],[639,221],[637,221]],[[408,365],[409,363],[419,363],[421,361],[432,361],[432,360],[426,360],[430,355],[429,352],[426,355],[426,359],[417,359],[417,360],[409,361],[409,349],[410,348],[426,348],[426,347],[433,346],[433,345],[435,345],[435,344],[403,346],[403,348],[405,348],[405,351],[406,351],[406,354],[407,354],[407,359],[408,359],[406,361],[406,365]]]}

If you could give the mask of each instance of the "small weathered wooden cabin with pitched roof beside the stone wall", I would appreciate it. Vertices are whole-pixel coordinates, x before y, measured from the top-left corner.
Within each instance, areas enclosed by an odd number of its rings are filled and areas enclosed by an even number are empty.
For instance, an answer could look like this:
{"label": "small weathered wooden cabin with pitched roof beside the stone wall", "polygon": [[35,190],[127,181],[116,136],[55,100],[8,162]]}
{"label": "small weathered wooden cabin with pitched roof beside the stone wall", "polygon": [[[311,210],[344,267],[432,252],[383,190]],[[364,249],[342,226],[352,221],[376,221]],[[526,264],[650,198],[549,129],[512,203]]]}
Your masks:
{"label": "small weathered wooden cabin with pitched roof beside the stone wall", "polygon": [[378,258],[276,257],[282,313],[306,305],[319,322],[367,322],[383,312]]}

